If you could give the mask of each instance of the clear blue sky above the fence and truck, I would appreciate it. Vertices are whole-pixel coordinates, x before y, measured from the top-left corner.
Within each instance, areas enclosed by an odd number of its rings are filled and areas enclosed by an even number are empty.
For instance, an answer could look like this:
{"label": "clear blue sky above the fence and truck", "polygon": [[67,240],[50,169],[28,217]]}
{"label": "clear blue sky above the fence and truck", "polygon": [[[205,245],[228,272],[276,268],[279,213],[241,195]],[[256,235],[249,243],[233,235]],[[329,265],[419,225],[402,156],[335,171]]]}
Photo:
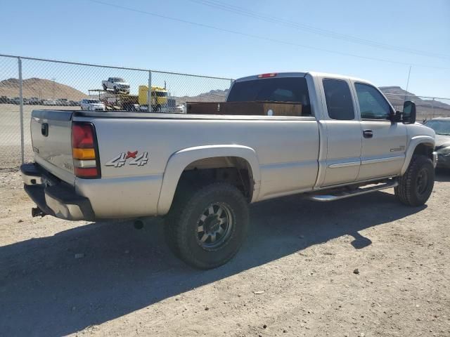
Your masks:
{"label": "clear blue sky above the fence and truck", "polygon": [[[412,64],[409,91],[450,97],[449,0],[101,1],[114,6],[91,0],[1,1],[0,53],[232,78],[315,70],[403,88]],[[323,30],[311,32],[316,29]],[[369,42],[356,44],[349,37]],[[401,51],[367,45],[373,42]]]}

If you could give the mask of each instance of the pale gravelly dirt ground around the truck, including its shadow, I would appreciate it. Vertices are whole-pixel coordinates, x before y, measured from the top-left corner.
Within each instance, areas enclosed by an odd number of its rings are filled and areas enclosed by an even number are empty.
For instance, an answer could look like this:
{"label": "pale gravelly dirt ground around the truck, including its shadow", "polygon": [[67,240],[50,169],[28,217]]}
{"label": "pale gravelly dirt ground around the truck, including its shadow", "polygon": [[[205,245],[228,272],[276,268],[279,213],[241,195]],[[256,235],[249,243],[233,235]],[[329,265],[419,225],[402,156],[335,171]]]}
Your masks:
{"label": "pale gravelly dirt ground around the truck, including its shadow", "polygon": [[450,336],[450,173],[428,204],[392,192],[252,205],[231,263],[174,258],[162,221],[31,218],[0,173],[1,336]]}

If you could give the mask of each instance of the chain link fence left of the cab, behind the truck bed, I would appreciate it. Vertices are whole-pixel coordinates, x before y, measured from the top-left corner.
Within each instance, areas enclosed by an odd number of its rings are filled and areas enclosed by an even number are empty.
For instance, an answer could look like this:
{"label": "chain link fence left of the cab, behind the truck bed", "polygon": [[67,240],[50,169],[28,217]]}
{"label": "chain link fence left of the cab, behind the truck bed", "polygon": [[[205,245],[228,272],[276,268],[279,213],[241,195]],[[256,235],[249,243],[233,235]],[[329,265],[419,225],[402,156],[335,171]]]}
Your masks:
{"label": "chain link fence left of the cab, behind the truck bed", "polygon": [[0,170],[32,161],[32,110],[183,113],[186,100],[223,101],[231,81],[0,55]]}

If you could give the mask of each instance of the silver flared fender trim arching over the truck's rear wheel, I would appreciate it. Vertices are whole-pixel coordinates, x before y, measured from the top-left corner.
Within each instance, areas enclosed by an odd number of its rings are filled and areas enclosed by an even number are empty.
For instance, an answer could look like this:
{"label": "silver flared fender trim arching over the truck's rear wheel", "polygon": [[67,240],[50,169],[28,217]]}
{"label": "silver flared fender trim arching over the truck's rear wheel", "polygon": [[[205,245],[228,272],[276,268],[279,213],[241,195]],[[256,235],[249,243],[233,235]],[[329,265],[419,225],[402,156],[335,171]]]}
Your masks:
{"label": "silver flared fender trim arching over the truck's rear wheel", "polygon": [[166,214],[179,185],[181,175],[193,163],[206,159],[236,158],[241,164],[248,167],[250,201],[257,199],[261,175],[259,161],[255,150],[243,145],[205,145],[188,147],[172,154],[167,161],[165,173],[162,178],[160,197],[158,199],[158,215]]}

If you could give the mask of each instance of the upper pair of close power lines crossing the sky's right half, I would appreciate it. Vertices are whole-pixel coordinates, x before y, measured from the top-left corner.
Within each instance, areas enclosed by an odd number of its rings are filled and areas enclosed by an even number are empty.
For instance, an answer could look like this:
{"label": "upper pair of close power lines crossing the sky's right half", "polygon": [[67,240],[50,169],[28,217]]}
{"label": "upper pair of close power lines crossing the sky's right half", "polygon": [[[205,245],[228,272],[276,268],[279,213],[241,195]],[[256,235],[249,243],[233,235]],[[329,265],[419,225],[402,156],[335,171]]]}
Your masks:
{"label": "upper pair of close power lines crossing the sky's right half", "polygon": [[202,4],[205,6],[210,6],[212,8],[218,8],[219,10],[222,11],[228,11],[230,13],[235,13],[238,15],[243,15],[245,17],[248,18],[256,18],[258,20],[263,20],[265,22],[271,22],[271,23],[275,23],[277,25],[283,25],[285,27],[291,27],[294,29],[298,29],[298,30],[302,30],[302,31],[306,31],[306,32],[311,32],[313,34],[319,34],[321,36],[324,37],[330,37],[333,39],[340,39],[342,41],[347,41],[347,42],[352,42],[354,44],[362,44],[365,46],[372,46],[375,48],[381,48],[381,49],[387,49],[390,51],[399,51],[401,53],[410,53],[410,54],[416,54],[416,55],[422,55],[422,56],[428,56],[428,57],[433,57],[433,58],[444,58],[444,59],[449,59],[450,55],[444,55],[444,54],[438,54],[438,53],[430,53],[428,51],[419,51],[416,49],[412,49],[412,48],[406,48],[406,47],[401,47],[401,46],[394,46],[391,44],[383,44],[381,42],[378,41],[372,41],[372,40],[368,40],[368,39],[361,39],[359,37],[354,37],[351,35],[347,35],[347,34],[340,34],[337,32],[332,32],[330,30],[326,30],[326,29],[321,29],[318,27],[314,27],[311,25],[304,25],[298,22],[294,22],[294,21],[290,21],[290,20],[285,20],[283,18],[277,18],[274,15],[264,15],[262,13],[257,13],[255,11],[251,11],[248,10],[246,8],[243,7],[239,7],[239,6],[233,6],[231,4],[225,4],[221,1],[217,1],[217,0],[189,0],[192,1],[196,4]]}

